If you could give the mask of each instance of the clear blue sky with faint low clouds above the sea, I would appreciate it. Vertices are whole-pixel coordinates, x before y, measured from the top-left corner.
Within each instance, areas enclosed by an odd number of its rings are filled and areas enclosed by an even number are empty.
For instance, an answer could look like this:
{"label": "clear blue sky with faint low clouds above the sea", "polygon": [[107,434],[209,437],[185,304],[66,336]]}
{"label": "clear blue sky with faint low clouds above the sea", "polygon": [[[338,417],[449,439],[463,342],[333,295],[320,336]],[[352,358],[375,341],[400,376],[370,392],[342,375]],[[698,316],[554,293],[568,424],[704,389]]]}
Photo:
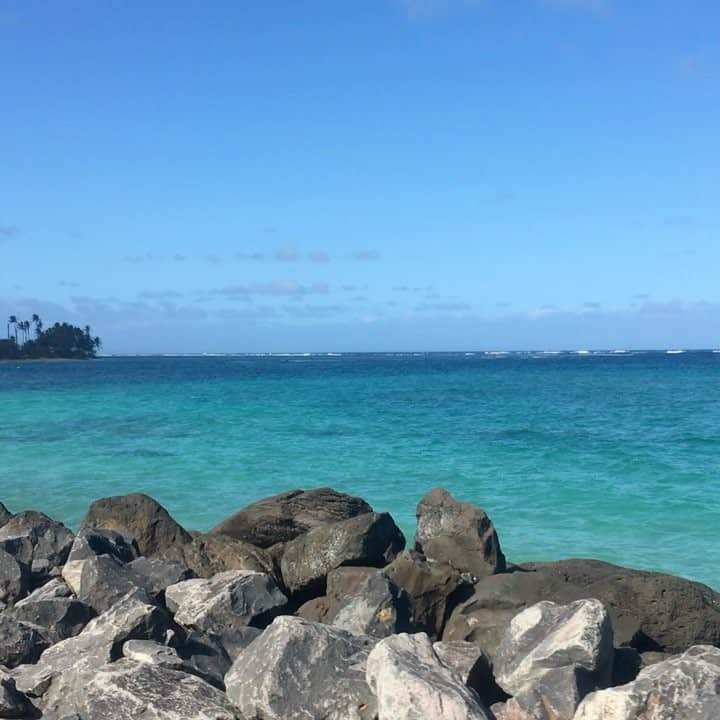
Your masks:
{"label": "clear blue sky with faint low clouds above the sea", "polygon": [[0,0],[0,315],[714,348],[719,87],[716,0]]}

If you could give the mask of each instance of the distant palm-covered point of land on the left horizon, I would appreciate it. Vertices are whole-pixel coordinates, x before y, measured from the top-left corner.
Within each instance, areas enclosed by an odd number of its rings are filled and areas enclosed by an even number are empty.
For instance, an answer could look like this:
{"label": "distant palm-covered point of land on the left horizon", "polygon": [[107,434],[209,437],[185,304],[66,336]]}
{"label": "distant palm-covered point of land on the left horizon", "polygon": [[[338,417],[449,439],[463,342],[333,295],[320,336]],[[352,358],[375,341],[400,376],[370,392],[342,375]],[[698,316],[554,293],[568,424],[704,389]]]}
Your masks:
{"label": "distant palm-covered point of land on the left horizon", "polygon": [[39,315],[7,321],[7,339],[0,339],[0,360],[87,360],[94,358],[102,341],[93,337],[89,325],[55,323],[44,329]]}

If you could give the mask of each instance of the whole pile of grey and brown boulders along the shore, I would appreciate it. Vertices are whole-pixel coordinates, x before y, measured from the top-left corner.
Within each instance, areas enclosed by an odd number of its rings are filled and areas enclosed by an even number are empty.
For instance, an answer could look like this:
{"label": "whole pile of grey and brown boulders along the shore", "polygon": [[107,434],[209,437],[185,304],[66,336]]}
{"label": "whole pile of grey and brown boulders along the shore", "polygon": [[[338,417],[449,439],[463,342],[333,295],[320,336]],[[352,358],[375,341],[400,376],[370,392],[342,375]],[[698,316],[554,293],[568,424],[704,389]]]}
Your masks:
{"label": "whole pile of grey and brown boulders along the shore", "polygon": [[145,495],[77,534],[0,504],[0,718],[720,718],[720,595],[593,560],[508,563],[441,489],[412,548],[331,489],[209,533]]}

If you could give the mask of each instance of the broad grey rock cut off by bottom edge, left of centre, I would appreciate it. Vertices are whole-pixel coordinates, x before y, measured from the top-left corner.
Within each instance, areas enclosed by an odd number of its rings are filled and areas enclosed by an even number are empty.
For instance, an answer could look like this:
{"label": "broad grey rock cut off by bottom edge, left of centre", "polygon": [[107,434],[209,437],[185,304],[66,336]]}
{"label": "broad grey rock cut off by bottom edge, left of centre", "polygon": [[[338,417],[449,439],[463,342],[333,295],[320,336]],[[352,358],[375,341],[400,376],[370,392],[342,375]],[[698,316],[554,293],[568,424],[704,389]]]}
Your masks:
{"label": "broad grey rock cut off by bottom edge, left of centre", "polygon": [[237,720],[223,693],[200,678],[127,659],[99,668],[75,704],[83,720]]}

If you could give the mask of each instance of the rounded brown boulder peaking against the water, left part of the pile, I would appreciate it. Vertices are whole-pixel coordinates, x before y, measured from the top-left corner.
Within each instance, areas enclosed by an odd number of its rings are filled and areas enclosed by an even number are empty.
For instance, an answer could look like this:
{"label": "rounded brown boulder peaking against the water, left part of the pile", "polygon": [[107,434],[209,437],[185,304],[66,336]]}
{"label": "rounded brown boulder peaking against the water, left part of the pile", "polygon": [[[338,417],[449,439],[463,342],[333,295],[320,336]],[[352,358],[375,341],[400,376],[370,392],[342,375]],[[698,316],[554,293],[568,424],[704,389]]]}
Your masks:
{"label": "rounded brown boulder peaking against the water, left part of the pile", "polygon": [[96,500],[81,527],[129,534],[135,538],[142,555],[155,555],[192,540],[160,503],[142,493]]}

